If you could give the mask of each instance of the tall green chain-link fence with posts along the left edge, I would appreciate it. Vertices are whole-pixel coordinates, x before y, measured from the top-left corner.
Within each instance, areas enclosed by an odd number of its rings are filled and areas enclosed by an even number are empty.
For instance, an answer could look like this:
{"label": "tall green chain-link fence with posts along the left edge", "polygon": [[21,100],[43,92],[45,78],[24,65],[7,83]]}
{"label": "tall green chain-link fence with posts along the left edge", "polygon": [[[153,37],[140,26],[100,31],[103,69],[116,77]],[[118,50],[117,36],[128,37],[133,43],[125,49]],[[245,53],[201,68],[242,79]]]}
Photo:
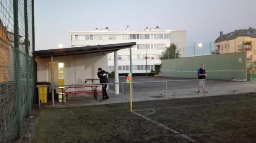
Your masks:
{"label": "tall green chain-link fence with posts along the left edge", "polygon": [[22,136],[35,94],[33,0],[0,0],[0,143]]}

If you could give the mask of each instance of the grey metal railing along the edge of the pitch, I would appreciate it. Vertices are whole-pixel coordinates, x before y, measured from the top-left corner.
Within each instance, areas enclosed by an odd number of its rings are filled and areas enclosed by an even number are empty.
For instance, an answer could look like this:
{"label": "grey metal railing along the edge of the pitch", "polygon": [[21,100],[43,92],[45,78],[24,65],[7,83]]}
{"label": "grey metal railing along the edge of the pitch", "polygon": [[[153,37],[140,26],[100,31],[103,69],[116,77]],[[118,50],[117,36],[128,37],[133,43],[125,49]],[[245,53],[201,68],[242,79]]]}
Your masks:
{"label": "grey metal railing along the edge of the pitch", "polygon": [[[165,83],[165,97],[167,100],[167,83],[168,82],[183,82],[183,81],[200,81],[203,80],[204,81],[204,89],[205,89],[205,79],[198,79],[198,80],[162,80],[162,81],[139,81],[139,82],[132,82],[132,84],[134,83]],[[38,106],[39,109],[41,109],[41,103],[40,103],[40,88],[42,87],[64,87],[64,86],[96,86],[96,85],[104,85],[104,84],[108,84],[108,85],[112,85],[112,84],[122,84],[122,103],[124,103],[124,83],[126,82],[122,82],[122,83],[92,83],[92,84],[68,84],[68,85],[62,85],[62,86],[44,86],[44,85],[39,85],[38,86]],[[126,83],[128,84],[128,83]],[[131,90],[133,92],[133,90]],[[205,97],[205,93],[204,93],[204,97]]]}

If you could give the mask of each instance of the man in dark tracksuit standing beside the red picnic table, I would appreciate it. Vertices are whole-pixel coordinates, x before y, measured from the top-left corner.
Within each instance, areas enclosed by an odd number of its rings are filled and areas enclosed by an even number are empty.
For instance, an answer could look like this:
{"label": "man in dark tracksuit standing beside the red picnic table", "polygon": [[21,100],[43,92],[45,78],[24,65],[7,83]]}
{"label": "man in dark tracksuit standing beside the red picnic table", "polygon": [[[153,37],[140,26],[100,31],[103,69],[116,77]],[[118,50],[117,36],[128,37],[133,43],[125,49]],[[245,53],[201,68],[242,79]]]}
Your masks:
{"label": "man in dark tracksuit standing beside the red picnic table", "polygon": [[[99,83],[108,83],[108,72],[102,70],[102,68],[98,69],[98,77],[99,77]],[[102,100],[108,99],[108,94],[107,94],[107,86],[108,84],[102,84]]]}

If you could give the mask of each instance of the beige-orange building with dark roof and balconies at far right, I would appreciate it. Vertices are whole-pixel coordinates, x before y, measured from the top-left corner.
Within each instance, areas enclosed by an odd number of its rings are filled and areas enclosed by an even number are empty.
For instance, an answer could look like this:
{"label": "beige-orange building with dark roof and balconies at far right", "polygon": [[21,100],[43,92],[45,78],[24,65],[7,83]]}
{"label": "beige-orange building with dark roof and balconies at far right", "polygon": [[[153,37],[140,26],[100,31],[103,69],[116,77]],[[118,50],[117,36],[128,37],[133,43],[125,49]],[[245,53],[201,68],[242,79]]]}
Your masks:
{"label": "beige-orange building with dark roof and balconies at far right", "polygon": [[216,54],[245,51],[247,53],[247,73],[256,70],[256,29],[240,29],[223,34],[215,40]]}

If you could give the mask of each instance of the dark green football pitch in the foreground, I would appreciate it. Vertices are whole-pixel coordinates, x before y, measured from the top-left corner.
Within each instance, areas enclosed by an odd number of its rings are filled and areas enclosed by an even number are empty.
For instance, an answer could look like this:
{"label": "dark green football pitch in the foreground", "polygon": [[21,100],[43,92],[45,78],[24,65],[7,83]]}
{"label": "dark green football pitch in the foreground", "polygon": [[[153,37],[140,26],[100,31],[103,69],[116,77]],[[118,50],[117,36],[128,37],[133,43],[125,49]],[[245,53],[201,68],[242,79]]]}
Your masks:
{"label": "dark green football pitch in the foreground", "polygon": [[256,94],[41,110],[34,143],[255,143]]}

